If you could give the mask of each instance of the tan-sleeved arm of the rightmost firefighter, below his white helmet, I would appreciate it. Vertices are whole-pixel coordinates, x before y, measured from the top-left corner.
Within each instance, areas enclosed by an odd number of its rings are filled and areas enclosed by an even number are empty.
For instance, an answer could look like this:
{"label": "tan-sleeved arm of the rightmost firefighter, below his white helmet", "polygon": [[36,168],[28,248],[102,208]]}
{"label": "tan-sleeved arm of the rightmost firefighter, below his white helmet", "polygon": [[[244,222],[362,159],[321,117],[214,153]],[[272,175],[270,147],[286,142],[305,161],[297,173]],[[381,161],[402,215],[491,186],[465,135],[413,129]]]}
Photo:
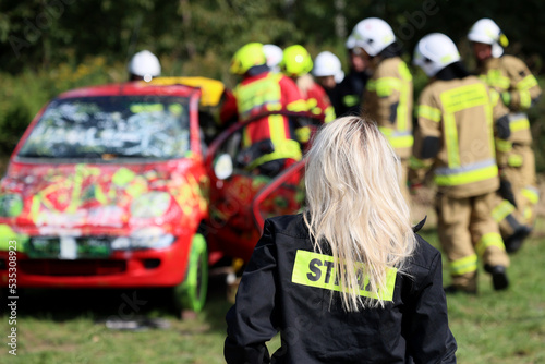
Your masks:
{"label": "tan-sleeved arm of the rightmost firefighter, below his white helmet", "polygon": [[501,100],[513,111],[526,110],[542,94],[537,80],[519,59],[509,58],[506,68],[511,85],[510,90],[501,93]]}

